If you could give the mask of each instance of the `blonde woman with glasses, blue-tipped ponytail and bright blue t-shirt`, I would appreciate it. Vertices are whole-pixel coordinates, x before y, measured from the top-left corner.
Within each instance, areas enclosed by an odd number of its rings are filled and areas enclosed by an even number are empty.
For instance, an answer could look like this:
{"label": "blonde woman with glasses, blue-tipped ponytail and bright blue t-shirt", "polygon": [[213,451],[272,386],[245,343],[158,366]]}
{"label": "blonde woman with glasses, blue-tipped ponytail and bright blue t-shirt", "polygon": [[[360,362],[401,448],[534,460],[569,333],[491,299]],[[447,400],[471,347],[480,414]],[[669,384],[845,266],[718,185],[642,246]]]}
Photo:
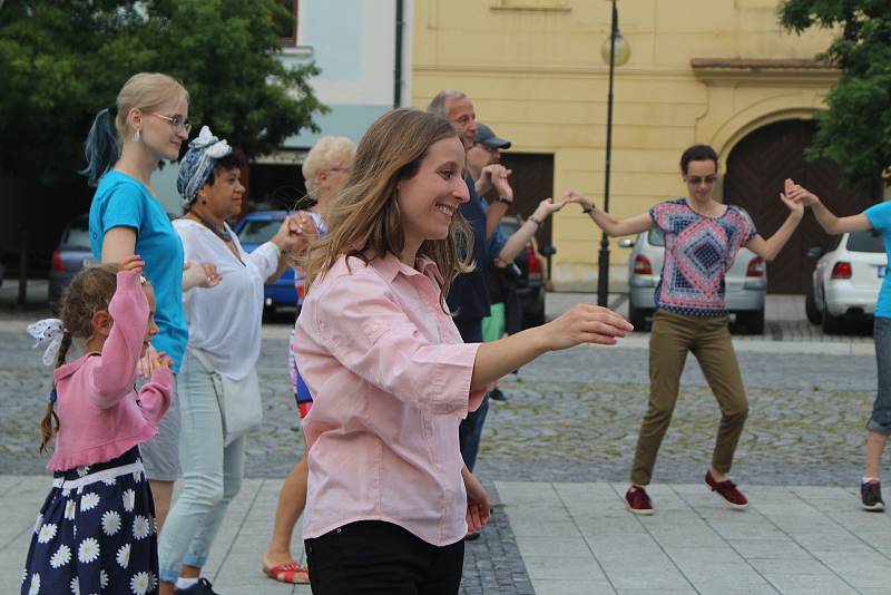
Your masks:
{"label": "blonde woman with glasses, blue-tipped ponytail and bright blue t-shirt", "polygon": [[[183,244],[151,189],[158,163],[179,158],[192,128],[187,118],[188,92],[178,81],[159,72],[134,75],[115,105],[96,115],[85,143],[88,165],[82,172],[91,186],[98,184],[89,218],[94,257],[119,263],[139,254],[146,261],[144,274],[157,299],[159,332],[153,348],[173,360],[175,373],[188,341],[183,292],[219,283],[210,264],[184,271]],[[143,445],[141,455],[160,530],[179,475],[176,399],[158,430],[158,437]]]}

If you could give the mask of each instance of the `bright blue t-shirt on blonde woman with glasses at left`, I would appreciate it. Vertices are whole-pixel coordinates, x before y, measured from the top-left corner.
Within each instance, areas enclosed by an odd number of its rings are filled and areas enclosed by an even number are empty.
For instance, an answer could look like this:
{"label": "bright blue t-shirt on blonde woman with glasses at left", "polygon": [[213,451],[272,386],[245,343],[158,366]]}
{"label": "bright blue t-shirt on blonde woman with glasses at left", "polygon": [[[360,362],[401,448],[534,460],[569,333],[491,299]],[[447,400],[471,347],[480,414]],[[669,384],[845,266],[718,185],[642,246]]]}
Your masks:
{"label": "bright blue t-shirt on blonde woman with glasses at left", "polygon": [[144,273],[155,290],[158,334],[151,344],[174,361],[176,373],[188,343],[183,310],[183,242],[148,188],[112,170],[99,181],[90,205],[90,247],[97,261],[102,256],[105,234],[115,227],[136,232],[135,253],[146,262]]}

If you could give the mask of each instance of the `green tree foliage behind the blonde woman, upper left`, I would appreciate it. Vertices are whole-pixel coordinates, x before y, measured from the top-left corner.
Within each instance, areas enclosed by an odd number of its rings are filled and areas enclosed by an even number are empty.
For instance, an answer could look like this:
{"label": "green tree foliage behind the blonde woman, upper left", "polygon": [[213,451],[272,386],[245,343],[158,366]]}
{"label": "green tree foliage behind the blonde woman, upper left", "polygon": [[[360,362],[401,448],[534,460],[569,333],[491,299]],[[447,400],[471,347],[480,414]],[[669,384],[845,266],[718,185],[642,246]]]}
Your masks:
{"label": "green tree foliage behind the blonde woman, upper left", "polygon": [[285,66],[277,0],[0,1],[0,168],[50,183],[84,166],[92,117],[139,71],[189,91],[189,119],[242,147],[274,150],[327,110],[319,70]]}

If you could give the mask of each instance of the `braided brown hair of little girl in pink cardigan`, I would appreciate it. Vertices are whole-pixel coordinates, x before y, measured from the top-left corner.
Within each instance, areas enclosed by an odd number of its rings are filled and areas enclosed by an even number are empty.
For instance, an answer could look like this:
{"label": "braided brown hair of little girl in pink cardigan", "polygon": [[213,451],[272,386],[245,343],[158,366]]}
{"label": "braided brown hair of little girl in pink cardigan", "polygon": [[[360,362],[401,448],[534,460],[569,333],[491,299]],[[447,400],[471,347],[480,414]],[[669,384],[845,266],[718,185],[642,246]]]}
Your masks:
{"label": "braided brown hair of little girl in pink cardigan", "polygon": [[[61,300],[60,318],[65,332],[56,357],[56,368],[65,364],[65,358],[71,348],[74,338],[89,339],[92,333],[92,315],[99,310],[107,310],[117,287],[116,264],[104,264],[81,270],[65,289]],[[56,382],[52,383],[56,392]],[[53,402],[47,403],[43,418],[40,420],[40,452],[46,452],[47,445],[59,431],[59,417]]]}

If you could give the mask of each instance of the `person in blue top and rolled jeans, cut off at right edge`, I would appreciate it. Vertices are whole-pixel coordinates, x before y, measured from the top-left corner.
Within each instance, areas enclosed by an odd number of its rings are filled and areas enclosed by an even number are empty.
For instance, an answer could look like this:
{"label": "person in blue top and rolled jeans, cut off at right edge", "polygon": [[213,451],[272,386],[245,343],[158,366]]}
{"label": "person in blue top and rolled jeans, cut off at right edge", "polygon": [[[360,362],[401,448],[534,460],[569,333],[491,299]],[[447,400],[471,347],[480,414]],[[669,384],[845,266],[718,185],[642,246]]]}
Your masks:
{"label": "person in blue top and rolled jeans, cut off at right edge", "polygon": [[[815,194],[795,185],[790,197],[810,206],[816,221],[828,234],[863,232],[875,230],[881,232],[884,250],[891,257],[891,203],[872,205],[859,215],[836,217]],[[879,300],[875,303],[875,322],[873,340],[875,341],[875,362],[879,373],[879,390],[872,413],[866,421],[866,466],[860,481],[861,506],[871,513],[884,510],[880,474],[882,451],[891,435],[891,281],[888,275],[882,280]]]}

